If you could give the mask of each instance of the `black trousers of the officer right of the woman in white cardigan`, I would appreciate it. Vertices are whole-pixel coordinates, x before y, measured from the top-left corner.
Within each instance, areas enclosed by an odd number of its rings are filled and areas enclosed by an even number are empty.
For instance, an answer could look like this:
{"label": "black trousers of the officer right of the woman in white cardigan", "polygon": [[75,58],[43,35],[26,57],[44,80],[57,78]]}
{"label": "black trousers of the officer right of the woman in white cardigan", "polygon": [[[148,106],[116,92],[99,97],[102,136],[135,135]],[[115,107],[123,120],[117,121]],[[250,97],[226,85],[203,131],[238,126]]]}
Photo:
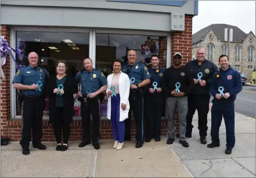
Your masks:
{"label": "black trousers of the officer right of the woman in white cardigan", "polygon": [[134,93],[133,90],[129,94],[129,117],[125,122],[125,140],[131,139],[131,112],[134,113],[136,123],[136,140],[143,142],[143,97],[139,92]]}

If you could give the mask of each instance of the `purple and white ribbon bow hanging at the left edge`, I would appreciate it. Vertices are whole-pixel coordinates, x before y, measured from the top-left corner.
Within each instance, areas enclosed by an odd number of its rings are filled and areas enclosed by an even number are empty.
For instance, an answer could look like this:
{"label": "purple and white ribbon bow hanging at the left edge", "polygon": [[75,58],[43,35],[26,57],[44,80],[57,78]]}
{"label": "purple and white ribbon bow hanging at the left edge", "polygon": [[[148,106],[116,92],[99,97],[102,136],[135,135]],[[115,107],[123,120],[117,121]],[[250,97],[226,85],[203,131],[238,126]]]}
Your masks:
{"label": "purple and white ribbon bow hanging at the left edge", "polygon": [[15,52],[16,54],[21,55],[23,57],[23,55],[20,54],[18,51],[9,47],[8,42],[5,39],[5,37],[1,36],[1,76],[2,76],[3,80],[5,80],[5,75],[3,73],[2,66],[5,65],[5,63],[6,63],[6,58],[7,58],[8,53],[10,54],[10,57],[12,57],[13,61],[15,62],[16,66],[17,66],[17,68],[20,69],[19,65],[17,64],[17,62],[15,60],[15,57],[12,55],[11,50],[13,50],[13,52]]}

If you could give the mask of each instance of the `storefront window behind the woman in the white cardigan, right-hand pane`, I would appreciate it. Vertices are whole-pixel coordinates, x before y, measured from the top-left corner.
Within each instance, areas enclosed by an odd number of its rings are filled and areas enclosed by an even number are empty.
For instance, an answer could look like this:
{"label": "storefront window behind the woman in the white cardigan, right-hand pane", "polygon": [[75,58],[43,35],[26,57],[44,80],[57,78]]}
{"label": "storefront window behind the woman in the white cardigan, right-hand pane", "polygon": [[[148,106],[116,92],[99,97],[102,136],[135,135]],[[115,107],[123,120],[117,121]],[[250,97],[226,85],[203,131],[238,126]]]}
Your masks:
{"label": "storefront window behind the woman in the white cardigan, right-hand pane", "polygon": [[[166,36],[123,35],[123,34],[96,34],[96,69],[102,71],[107,77],[112,73],[112,62],[119,59],[127,62],[128,50],[135,50],[137,61],[147,67],[147,61],[151,55],[157,54],[160,58],[160,66],[166,68]],[[102,116],[107,114],[106,93],[101,96]]]}

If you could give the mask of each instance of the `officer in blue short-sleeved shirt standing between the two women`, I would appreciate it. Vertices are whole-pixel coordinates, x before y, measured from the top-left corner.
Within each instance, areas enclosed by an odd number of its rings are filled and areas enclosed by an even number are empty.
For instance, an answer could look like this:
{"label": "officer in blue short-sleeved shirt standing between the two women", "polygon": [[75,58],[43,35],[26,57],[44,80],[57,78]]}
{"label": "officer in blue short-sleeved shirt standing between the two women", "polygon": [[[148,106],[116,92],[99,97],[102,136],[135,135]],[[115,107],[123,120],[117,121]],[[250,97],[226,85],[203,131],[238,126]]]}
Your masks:
{"label": "officer in blue short-sleeved shirt standing between the two women", "polygon": [[84,147],[91,143],[91,114],[93,138],[92,145],[96,150],[100,149],[100,97],[99,95],[107,89],[107,80],[103,72],[93,68],[91,58],[84,60],[85,70],[80,71],[75,79],[81,83],[81,91],[78,91],[79,100],[81,102],[82,115],[82,142],[79,147]]}

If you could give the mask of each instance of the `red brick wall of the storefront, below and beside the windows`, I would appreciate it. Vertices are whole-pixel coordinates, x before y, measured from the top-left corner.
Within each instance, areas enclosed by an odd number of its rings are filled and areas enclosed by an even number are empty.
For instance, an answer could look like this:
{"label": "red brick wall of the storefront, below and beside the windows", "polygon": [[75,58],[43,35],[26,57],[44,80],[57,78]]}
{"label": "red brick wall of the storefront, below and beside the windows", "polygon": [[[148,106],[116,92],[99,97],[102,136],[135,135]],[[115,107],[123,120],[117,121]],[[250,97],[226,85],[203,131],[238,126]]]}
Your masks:
{"label": "red brick wall of the storefront, below and beside the windows", "polygon": [[[171,41],[171,57],[176,52],[180,52],[183,55],[182,64],[186,64],[192,58],[192,18],[193,16],[185,16],[185,31],[172,33]],[[9,39],[9,28],[1,26],[2,35],[5,35],[6,39]],[[166,38],[160,42],[160,60],[166,55]],[[165,62],[161,60],[161,66],[165,66]],[[10,61],[4,66],[4,72],[6,73],[7,80],[2,81],[3,86],[1,86],[1,135],[8,135],[12,141],[19,141],[21,139],[21,120],[14,119],[8,120],[10,118]],[[178,133],[179,122],[178,116],[175,116],[175,132]],[[6,122],[6,120],[8,120]],[[135,138],[136,127],[135,122],[132,121],[131,127],[131,137]],[[7,126],[8,125],[8,126]],[[53,127],[48,120],[44,119],[42,121],[43,128],[43,138],[42,141],[53,141],[55,138],[53,136]],[[145,128],[145,127],[144,127]],[[167,135],[167,121],[162,120],[161,122],[161,135]],[[8,133],[8,134],[7,134]],[[74,120],[71,123],[71,135],[70,141],[81,140],[82,139],[82,123],[81,120]],[[113,139],[111,122],[110,120],[101,121],[101,138],[102,140]]]}

